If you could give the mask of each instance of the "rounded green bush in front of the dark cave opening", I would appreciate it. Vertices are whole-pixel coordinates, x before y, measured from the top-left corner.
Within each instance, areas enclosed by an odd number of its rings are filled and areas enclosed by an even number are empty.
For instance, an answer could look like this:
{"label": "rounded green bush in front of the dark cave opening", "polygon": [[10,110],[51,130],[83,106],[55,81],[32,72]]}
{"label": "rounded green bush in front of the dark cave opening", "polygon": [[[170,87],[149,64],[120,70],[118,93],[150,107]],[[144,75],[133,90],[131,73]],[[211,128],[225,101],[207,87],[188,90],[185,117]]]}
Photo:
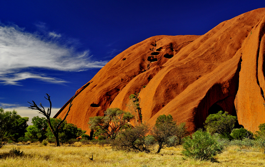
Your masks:
{"label": "rounded green bush in front of the dark cave opening", "polygon": [[236,116],[229,115],[228,112],[219,111],[217,114],[210,114],[204,123],[204,127],[210,134],[218,133],[225,138],[230,138],[230,133],[234,129]]}

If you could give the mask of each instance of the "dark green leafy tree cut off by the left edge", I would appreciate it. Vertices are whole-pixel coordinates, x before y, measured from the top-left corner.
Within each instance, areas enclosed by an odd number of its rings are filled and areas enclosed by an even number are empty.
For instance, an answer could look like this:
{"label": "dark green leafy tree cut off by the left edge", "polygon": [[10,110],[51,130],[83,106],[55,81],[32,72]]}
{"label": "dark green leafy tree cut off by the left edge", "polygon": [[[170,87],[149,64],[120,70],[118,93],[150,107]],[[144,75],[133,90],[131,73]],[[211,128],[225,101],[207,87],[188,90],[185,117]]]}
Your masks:
{"label": "dark green leafy tree cut off by the left edge", "polygon": [[4,111],[0,108],[0,148],[3,147],[9,140],[16,141],[24,136],[26,122],[28,117],[21,117],[16,110]]}

